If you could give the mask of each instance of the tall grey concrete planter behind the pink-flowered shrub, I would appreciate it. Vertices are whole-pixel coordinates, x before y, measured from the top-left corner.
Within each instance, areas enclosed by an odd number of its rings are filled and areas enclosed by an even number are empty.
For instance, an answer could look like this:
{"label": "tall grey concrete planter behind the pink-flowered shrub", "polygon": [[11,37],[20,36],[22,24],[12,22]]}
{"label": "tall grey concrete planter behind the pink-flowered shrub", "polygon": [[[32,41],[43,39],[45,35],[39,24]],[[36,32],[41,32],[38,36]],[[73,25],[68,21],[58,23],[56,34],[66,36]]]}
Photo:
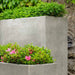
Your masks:
{"label": "tall grey concrete planter behind the pink-flowered shrub", "polygon": [[33,43],[52,50],[57,75],[67,75],[67,20],[62,17],[31,17],[0,21],[0,44]]}

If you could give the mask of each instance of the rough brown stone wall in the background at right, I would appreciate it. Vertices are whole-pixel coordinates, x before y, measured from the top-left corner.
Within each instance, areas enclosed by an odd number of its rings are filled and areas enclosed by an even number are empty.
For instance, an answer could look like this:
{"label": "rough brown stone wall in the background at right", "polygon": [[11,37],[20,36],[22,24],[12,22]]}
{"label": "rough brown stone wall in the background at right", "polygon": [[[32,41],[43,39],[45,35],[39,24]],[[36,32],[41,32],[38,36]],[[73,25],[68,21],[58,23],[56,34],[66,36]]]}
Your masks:
{"label": "rough brown stone wall in the background at right", "polygon": [[[57,1],[66,3],[66,0],[42,0],[45,2]],[[68,14],[68,75],[75,75],[75,4],[66,3]]]}

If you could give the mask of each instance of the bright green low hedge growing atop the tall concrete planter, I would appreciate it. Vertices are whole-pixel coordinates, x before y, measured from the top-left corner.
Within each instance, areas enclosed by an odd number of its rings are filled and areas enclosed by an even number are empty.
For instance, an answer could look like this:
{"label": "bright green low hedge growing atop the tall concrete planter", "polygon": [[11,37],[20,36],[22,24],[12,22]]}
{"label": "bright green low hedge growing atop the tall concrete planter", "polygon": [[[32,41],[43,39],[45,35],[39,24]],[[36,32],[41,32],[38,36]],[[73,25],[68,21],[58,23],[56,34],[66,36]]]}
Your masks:
{"label": "bright green low hedge growing atop the tall concrete planter", "polygon": [[37,6],[30,7],[16,7],[13,10],[7,9],[0,13],[0,20],[13,19],[23,17],[35,17],[35,16],[56,16],[61,17],[65,14],[65,5],[52,3],[38,3]]}

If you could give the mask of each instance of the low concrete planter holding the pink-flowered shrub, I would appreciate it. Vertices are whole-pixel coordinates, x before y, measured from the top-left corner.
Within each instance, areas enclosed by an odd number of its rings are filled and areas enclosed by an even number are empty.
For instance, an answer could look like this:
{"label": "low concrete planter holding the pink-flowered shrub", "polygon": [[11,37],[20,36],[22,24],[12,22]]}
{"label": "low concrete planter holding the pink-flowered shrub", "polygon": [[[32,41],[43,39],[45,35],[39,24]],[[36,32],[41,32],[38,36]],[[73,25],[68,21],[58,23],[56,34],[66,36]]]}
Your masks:
{"label": "low concrete planter holding the pink-flowered shrub", "polygon": [[0,63],[0,75],[57,75],[56,64],[16,65]]}

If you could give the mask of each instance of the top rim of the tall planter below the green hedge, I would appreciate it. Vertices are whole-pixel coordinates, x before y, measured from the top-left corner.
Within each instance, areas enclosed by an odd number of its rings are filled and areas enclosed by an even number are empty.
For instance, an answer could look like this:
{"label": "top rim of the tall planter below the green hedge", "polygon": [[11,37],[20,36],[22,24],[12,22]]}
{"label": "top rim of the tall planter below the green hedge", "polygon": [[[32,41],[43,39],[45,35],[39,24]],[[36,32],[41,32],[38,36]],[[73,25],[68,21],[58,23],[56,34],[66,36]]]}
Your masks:
{"label": "top rim of the tall planter below the green hedge", "polygon": [[18,19],[21,19],[21,20],[23,20],[23,19],[33,19],[33,18],[47,18],[47,17],[51,17],[51,18],[59,18],[59,19],[61,19],[61,18],[63,18],[63,19],[67,19],[66,17],[55,17],[55,16],[35,16],[35,17],[25,17],[25,18],[15,18],[15,19],[3,19],[3,20],[0,20],[0,21],[12,21],[12,20],[18,20]]}

